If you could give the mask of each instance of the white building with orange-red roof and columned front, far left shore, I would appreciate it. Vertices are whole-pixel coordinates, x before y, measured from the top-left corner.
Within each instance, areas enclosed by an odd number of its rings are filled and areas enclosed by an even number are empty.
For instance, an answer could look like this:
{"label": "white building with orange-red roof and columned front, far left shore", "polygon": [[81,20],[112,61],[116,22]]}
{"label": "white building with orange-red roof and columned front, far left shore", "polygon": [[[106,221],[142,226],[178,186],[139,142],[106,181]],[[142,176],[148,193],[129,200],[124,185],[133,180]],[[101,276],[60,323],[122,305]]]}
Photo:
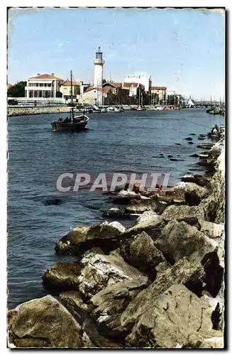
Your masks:
{"label": "white building with orange-red roof and columned front, far left shore", "polygon": [[60,84],[63,80],[52,74],[42,74],[36,77],[29,77],[25,87],[26,98],[50,98],[57,97],[56,93],[60,91]]}

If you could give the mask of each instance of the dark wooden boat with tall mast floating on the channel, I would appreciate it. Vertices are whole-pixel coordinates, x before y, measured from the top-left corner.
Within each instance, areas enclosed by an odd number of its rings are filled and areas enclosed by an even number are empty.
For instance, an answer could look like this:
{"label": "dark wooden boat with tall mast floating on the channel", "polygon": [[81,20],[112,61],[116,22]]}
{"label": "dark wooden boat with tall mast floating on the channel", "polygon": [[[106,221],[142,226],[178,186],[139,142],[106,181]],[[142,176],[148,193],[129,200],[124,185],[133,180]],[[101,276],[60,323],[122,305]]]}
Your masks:
{"label": "dark wooden boat with tall mast floating on the channel", "polygon": [[66,117],[66,119],[57,119],[51,123],[53,127],[53,132],[63,132],[63,131],[83,131],[86,129],[89,117],[85,114],[85,111],[83,111],[83,114],[79,116],[74,115],[74,107],[73,107],[73,102],[72,102],[72,70],[70,72],[71,76],[71,89],[70,89],[70,95],[71,95],[71,109],[70,109],[70,116]]}

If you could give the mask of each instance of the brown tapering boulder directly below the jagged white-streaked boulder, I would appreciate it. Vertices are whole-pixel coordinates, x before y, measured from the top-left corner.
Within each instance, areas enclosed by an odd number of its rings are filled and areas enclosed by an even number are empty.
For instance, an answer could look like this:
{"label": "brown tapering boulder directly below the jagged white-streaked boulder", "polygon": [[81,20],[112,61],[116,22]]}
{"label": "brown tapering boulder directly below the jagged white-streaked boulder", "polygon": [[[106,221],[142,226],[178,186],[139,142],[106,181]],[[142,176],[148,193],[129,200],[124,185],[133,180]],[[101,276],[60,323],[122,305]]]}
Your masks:
{"label": "brown tapering boulder directly below the jagged white-streaked boulder", "polygon": [[107,286],[90,299],[94,307],[92,316],[100,332],[116,339],[123,337],[120,324],[121,313],[140,290],[147,286],[147,282],[148,278],[145,276],[138,280],[123,280]]}

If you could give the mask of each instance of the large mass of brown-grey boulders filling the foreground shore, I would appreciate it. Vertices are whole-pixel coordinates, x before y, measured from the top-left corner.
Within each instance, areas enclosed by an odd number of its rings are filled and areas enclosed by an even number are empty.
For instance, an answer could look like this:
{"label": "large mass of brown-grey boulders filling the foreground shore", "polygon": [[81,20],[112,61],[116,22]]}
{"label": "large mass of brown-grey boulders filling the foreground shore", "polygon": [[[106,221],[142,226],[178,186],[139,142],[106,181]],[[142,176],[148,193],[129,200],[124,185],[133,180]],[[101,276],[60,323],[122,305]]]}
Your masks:
{"label": "large mass of brown-grey boulders filling the foreground shore", "polygon": [[9,346],[223,348],[224,153],[223,141],[209,150],[211,175],[128,199],[131,228],[77,226],[57,241],[77,261],[45,271],[53,296],[9,311]]}

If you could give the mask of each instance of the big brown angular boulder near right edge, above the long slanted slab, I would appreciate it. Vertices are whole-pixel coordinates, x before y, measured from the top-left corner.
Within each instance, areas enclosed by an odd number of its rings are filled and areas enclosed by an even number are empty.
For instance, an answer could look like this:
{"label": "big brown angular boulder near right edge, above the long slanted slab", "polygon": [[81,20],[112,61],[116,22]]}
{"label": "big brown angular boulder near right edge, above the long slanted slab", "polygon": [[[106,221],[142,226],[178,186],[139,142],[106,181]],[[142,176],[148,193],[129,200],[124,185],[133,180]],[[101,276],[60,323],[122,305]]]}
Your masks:
{"label": "big brown angular boulder near right edge, above the long slanted slab", "polygon": [[206,254],[216,250],[218,244],[195,226],[185,222],[170,221],[162,229],[160,238],[155,245],[172,262],[179,261],[186,256],[189,261],[197,263]]}

